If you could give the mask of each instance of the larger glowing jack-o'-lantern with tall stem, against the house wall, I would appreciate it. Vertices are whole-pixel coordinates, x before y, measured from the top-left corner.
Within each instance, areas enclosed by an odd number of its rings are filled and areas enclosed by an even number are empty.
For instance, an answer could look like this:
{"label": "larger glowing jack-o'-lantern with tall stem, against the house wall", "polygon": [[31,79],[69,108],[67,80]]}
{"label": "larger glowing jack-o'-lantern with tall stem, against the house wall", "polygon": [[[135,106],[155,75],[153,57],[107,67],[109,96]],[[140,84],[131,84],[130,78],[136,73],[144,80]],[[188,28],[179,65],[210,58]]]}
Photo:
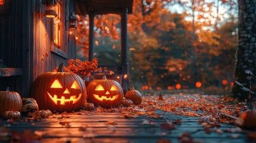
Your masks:
{"label": "larger glowing jack-o'-lantern with tall stem, against the house wall", "polygon": [[31,95],[40,109],[72,111],[86,102],[84,81],[75,73],[64,72],[63,64],[57,72],[43,73],[33,82]]}

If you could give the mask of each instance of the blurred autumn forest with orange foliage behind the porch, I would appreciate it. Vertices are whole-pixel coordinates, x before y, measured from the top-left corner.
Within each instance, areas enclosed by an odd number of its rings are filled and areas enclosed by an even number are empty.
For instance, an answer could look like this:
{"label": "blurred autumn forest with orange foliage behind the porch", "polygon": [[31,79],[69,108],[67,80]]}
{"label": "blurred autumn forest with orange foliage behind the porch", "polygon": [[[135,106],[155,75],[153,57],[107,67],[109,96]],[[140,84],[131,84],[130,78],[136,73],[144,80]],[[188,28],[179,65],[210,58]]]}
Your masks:
{"label": "blurred autumn forest with orange foliage behind the porch", "polygon": [[[76,58],[87,60],[89,17],[77,17]],[[100,65],[121,64],[120,21],[95,16]],[[200,82],[202,91],[231,92],[237,48],[236,0],[134,0],[128,15],[129,83],[138,89],[195,89]]]}

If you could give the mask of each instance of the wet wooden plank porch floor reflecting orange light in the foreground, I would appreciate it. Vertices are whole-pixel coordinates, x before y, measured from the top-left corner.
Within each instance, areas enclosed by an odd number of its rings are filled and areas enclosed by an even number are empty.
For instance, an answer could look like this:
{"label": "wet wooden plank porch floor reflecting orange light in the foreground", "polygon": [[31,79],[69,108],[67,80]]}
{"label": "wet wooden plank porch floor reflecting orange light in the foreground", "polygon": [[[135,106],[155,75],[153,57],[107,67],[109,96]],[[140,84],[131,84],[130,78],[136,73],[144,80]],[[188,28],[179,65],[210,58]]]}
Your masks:
{"label": "wet wooden plank porch floor reflecting orange light in the foreground", "polygon": [[112,111],[62,113],[39,120],[20,117],[11,123],[0,119],[0,142],[250,142],[249,131],[235,125],[204,128],[199,117],[162,110],[136,117],[118,108]]}

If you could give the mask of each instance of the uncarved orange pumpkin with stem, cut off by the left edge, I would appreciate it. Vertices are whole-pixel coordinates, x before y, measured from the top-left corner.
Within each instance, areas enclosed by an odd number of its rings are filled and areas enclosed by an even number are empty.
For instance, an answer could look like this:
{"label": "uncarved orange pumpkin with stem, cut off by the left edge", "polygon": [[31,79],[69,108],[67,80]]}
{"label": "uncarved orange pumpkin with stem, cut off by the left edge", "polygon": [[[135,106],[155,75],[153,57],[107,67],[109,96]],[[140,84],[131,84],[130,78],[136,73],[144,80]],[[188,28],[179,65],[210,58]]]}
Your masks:
{"label": "uncarved orange pumpkin with stem, cut off by the left edge", "polygon": [[9,87],[6,91],[0,91],[0,116],[5,111],[20,111],[22,107],[22,100],[17,92],[9,91]]}

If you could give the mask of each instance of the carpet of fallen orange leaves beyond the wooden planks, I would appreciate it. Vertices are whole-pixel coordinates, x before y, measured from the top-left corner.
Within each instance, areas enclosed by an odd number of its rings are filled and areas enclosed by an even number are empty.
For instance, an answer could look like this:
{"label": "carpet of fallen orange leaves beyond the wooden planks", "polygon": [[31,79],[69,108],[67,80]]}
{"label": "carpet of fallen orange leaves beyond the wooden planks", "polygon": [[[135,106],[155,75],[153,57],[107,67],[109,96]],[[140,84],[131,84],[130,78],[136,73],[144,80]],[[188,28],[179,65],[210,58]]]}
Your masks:
{"label": "carpet of fallen orange leaves beyond the wooden planks", "polygon": [[[140,105],[118,108],[97,108],[97,112],[118,112],[122,117],[131,118],[147,115],[161,118],[166,113],[176,116],[200,117],[219,123],[233,123],[243,111],[248,110],[246,102],[239,102],[234,98],[220,95],[174,94],[161,96],[144,96]],[[162,111],[161,114],[155,114]]]}

